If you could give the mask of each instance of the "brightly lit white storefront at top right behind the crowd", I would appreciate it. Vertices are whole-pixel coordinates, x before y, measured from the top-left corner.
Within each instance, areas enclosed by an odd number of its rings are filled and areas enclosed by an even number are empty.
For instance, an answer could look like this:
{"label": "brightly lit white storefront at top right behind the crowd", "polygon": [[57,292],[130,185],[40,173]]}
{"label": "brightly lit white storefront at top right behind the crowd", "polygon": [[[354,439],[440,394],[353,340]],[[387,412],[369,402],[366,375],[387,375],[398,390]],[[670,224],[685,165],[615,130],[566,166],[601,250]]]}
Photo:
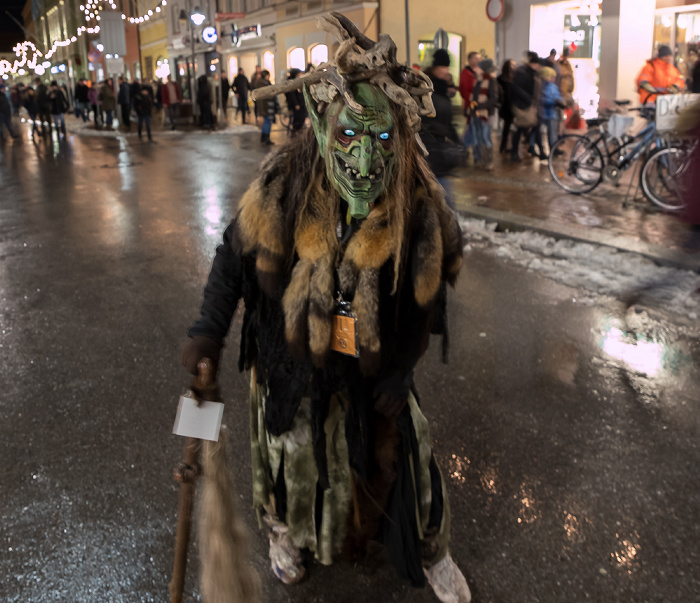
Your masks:
{"label": "brightly lit white storefront at top right behind the crowd", "polygon": [[700,50],[700,2],[688,0],[521,0],[497,25],[496,56],[522,61],[572,48],[574,98],[586,117],[615,99],[637,100],[636,77],[656,48],[674,49],[690,73]]}

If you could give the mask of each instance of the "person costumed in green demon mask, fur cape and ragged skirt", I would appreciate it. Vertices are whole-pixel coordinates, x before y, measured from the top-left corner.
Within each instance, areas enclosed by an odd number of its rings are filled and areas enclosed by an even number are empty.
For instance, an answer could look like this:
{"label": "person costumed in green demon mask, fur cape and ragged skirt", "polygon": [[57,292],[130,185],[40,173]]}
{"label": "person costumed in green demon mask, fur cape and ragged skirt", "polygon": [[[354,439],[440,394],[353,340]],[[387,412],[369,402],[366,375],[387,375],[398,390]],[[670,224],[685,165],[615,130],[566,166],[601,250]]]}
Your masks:
{"label": "person costumed in green demon mask, fur cape and ragged skirt", "polygon": [[450,511],[413,370],[446,353],[446,285],[461,232],[423,158],[430,80],[338,13],[330,63],[258,97],[302,89],[312,128],[261,166],[217,248],[183,363],[219,360],[239,299],[250,371],[254,503],[273,572],[305,575],[378,540],[401,576],[466,603]]}

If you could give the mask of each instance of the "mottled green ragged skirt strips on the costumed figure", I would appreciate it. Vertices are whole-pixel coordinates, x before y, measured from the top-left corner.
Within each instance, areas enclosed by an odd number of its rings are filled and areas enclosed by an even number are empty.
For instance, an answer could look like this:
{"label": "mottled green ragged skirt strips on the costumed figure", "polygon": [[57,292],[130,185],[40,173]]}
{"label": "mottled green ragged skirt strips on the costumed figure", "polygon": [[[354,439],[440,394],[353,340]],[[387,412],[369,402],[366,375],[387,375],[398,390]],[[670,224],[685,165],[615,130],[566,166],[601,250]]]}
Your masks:
{"label": "mottled green ragged skirt strips on the costumed figure", "polygon": [[[422,549],[430,551],[423,555],[423,564],[429,567],[440,561],[447,552],[449,504],[442,477],[435,480],[435,476],[431,476],[431,463],[433,471],[436,470],[436,465],[430,447],[428,421],[413,394],[409,395],[408,404],[418,442],[418,455],[410,455],[408,458],[415,495],[415,523]],[[275,485],[282,477],[286,489],[284,523],[289,528],[289,537],[300,549],[313,551],[316,559],[325,565],[330,565],[334,556],[343,550],[353,504],[353,478],[345,437],[344,408],[347,408],[345,397],[340,393],[334,395],[324,423],[330,488],[321,490],[318,488],[319,473],[314,458],[309,398],[302,399],[291,429],[275,437],[265,427],[264,388],[255,382],[254,375],[251,379],[253,504],[258,519],[264,513],[276,515]],[[417,466],[415,458],[419,459]],[[429,528],[436,481],[439,484],[437,487],[442,489],[442,517],[438,521],[439,526],[435,526],[433,517],[434,527]],[[317,500],[319,496],[323,499]],[[319,513],[321,517],[317,517]],[[262,527],[262,521],[260,525]]]}

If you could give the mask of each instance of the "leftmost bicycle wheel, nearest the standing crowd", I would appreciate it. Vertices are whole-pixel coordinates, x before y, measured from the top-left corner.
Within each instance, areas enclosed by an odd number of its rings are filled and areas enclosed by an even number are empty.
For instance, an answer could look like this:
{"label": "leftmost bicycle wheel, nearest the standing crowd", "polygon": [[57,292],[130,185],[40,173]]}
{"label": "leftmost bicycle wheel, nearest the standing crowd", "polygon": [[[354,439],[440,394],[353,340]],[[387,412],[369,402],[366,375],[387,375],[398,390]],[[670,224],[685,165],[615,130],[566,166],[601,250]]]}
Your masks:
{"label": "leftmost bicycle wheel, nearest the standing crowd", "polygon": [[549,153],[549,173],[565,191],[580,195],[592,191],[603,179],[605,160],[585,136],[562,136]]}

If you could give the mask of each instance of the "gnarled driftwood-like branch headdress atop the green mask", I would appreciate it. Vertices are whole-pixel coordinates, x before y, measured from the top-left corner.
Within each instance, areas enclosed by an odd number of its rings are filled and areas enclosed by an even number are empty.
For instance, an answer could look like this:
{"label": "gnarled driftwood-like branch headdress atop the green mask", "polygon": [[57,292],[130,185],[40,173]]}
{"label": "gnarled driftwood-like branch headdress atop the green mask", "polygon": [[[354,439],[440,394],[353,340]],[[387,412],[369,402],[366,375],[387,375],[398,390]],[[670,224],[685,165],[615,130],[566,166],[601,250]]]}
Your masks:
{"label": "gnarled driftwood-like branch headdress atop the green mask", "polygon": [[362,113],[362,105],[353,98],[351,85],[369,82],[402,108],[415,132],[420,129],[421,116],[435,115],[430,78],[396,61],[396,44],[387,34],[380,34],[379,41],[374,42],[338,12],[320,17],[317,25],[340,43],[334,59],[293,80],[258,88],[252,93],[253,99],[269,98],[306,85],[319,112],[340,94],[352,111]]}

